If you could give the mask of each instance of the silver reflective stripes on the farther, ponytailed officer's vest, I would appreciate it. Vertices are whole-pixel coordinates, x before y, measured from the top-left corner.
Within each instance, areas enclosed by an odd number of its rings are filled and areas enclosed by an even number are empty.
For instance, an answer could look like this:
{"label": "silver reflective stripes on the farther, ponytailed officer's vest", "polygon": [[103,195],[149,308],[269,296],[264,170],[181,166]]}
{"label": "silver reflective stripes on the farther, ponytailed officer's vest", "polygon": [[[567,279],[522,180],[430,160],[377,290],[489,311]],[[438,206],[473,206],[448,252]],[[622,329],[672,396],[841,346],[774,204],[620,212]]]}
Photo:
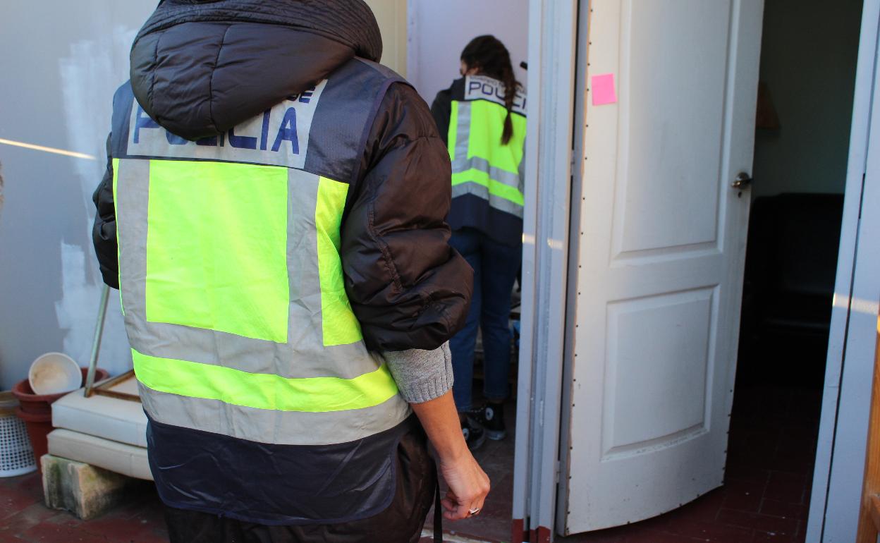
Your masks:
{"label": "silver reflective stripes on the farther, ponytailed officer's vest", "polygon": [[[467,149],[469,145],[469,136],[471,133],[471,104],[468,102],[458,102],[458,123],[455,129],[455,157],[452,158],[452,173],[466,172],[468,170],[479,170],[488,173],[490,179],[496,180],[508,187],[516,188],[520,193],[524,192],[524,177],[522,173],[524,160],[519,163],[520,173],[511,173],[501,168],[489,165],[485,158],[467,157]],[[510,213],[511,215],[523,218],[523,206],[515,202],[510,202],[504,198],[499,198],[494,194],[489,194],[489,189],[477,183],[461,183],[452,186],[452,197],[462,196],[464,194],[473,194],[479,196],[489,203],[490,207]]]}

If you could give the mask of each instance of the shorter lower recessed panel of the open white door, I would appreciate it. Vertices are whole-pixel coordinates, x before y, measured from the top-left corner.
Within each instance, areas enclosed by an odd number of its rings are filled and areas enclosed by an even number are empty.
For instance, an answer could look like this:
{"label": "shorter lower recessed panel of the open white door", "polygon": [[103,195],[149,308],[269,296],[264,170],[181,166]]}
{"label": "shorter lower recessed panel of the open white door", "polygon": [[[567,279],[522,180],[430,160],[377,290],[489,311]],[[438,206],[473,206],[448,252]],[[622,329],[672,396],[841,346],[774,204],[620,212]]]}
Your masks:
{"label": "shorter lower recessed panel of the open white door", "polygon": [[602,461],[708,431],[714,292],[687,290],[608,305]]}

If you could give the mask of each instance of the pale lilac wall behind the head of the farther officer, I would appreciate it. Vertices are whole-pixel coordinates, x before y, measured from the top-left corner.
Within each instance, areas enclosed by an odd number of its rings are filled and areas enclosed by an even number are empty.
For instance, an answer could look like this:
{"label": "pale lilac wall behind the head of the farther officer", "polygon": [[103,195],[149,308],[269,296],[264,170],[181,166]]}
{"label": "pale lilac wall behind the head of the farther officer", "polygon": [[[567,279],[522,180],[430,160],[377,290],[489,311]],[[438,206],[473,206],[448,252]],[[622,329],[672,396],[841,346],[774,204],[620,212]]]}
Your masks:
{"label": "pale lilac wall behind the head of the farther officer", "polygon": [[430,103],[458,75],[461,50],[480,34],[494,34],[510,51],[517,80],[528,58],[528,0],[409,0],[407,78]]}

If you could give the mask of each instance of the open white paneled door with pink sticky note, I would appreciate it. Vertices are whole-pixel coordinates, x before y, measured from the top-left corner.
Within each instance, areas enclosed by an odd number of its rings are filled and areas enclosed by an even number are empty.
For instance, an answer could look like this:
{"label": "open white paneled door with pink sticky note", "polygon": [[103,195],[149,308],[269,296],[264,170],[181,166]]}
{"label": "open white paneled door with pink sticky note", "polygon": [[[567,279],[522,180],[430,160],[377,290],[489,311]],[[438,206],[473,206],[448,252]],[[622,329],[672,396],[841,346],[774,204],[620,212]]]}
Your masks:
{"label": "open white paneled door with pink sticky note", "polygon": [[[763,13],[762,0],[589,4],[569,533],[722,484],[750,200],[731,183],[752,171]],[[605,74],[618,101],[594,106]]]}

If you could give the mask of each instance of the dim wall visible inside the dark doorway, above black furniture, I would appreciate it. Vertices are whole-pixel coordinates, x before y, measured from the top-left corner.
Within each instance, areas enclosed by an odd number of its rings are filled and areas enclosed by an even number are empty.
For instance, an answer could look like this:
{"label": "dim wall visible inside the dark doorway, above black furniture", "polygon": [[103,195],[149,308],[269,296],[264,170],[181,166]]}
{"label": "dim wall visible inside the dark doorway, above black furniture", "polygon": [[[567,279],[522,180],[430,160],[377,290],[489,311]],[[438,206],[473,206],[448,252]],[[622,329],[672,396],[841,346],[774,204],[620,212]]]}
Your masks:
{"label": "dim wall visible inside the dark doorway, above black furniture", "polygon": [[754,197],[842,193],[862,0],[766,0],[761,81],[780,130],[759,129]]}

